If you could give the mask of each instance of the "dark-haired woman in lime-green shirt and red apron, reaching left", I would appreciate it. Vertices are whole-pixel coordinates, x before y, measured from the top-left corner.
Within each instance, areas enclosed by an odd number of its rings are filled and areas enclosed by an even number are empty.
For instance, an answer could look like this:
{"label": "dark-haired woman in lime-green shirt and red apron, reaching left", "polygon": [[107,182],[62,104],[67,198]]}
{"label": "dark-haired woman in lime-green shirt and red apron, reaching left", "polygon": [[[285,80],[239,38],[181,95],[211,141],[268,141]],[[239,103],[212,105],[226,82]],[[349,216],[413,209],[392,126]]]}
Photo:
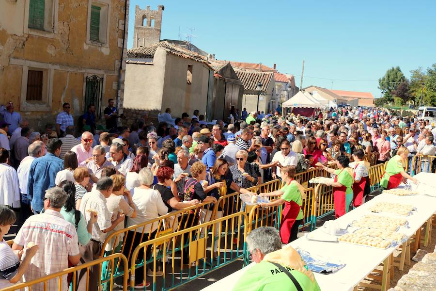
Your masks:
{"label": "dark-haired woman in lime-green shirt and red apron, reaching left", "polygon": [[347,156],[341,155],[336,160],[337,170],[331,169],[322,163],[316,163],[317,166],[323,168],[330,174],[334,174],[335,180],[333,183],[327,183],[327,186],[333,186],[333,201],[335,205],[336,218],[343,216],[348,212],[350,203],[353,201],[353,170],[348,167],[350,160]]}

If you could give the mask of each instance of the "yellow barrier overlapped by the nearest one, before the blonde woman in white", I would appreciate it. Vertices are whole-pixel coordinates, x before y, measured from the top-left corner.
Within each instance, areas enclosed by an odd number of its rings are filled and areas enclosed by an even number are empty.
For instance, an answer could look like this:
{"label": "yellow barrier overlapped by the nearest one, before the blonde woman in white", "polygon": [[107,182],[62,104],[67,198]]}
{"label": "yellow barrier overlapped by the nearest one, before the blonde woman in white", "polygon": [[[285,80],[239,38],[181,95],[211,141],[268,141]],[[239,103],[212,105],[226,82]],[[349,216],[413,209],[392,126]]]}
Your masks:
{"label": "yellow barrier overlapped by the nearest one, before the blonde woman in white", "polygon": [[[213,220],[215,218],[216,208],[217,205],[213,205],[213,203],[201,203],[196,206],[187,207],[183,210],[171,211],[170,213],[159,216],[152,220],[148,220],[141,224],[125,227],[118,231],[112,232],[107,236],[106,240],[103,242],[100,258],[105,256],[105,248],[109,244],[109,242],[113,244],[113,242],[119,242],[121,240],[122,245],[121,245],[121,250],[119,250],[119,252],[125,254],[127,260],[130,261],[132,251],[135,249],[135,246],[133,245],[134,238],[136,236],[140,236],[141,242],[149,241],[152,239],[152,231],[146,233],[145,232],[146,227],[148,228],[148,226],[150,226],[150,230],[156,228],[157,232],[155,237],[163,236],[169,233],[173,233],[175,231],[189,228],[197,224],[202,224],[203,220],[200,219],[201,216],[210,217],[210,220]],[[140,230],[140,228],[142,228],[142,230]],[[127,245],[125,243],[125,239],[129,232],[130,235],[133,235],[133,238],[130,240],[130,243]],[[106,255],[114,254],[115,247],[117,245],[118,243],[114,245],[111,251],[106,252]],[[124,274],[124,270],[121,270],[118,265],[117,268],[115,268],[115,272],[113,276],[116,278],[122,276],[123,274]]]}

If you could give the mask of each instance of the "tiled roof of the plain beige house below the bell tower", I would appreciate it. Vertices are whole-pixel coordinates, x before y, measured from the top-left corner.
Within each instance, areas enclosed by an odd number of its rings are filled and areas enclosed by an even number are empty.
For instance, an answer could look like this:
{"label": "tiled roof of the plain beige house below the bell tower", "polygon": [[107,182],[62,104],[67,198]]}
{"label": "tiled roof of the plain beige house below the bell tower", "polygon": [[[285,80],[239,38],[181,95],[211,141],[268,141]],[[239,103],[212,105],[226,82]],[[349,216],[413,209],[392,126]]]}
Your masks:
{"label": "tiled roof of the plain beige house below the bell tower", "polygon": [[127,50],[127,57],[129,58],[153,58],[157,48],[163,48],[168,53],[171,53],[173,55],[185,58],[185,59],[191,59],[203,64],[207,64],[207,60],[200,54],[189,51],[187,49],[180,48],[176,45],[170,44],[167,41],[161,41],[157,43],[154,46],[145,48],[145,47],[139,47],[139,48],[133,48]]}

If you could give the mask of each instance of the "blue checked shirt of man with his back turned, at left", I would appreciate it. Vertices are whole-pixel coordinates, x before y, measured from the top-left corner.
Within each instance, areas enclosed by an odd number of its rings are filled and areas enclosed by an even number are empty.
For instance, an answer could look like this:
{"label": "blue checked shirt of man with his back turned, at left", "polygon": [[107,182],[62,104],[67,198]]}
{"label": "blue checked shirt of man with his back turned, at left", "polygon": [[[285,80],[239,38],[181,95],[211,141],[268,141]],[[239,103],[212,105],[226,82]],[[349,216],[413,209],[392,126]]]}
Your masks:
{"label": "blue checked shirt of man with his back turned, at left", "polygon": [[55,187],[56,174],[63,170],[63,160],[56,155],[47,153],[33,160],[29,169],[27,191],[31,198],[33,210],[40,212],[44,208],[46,190]]}

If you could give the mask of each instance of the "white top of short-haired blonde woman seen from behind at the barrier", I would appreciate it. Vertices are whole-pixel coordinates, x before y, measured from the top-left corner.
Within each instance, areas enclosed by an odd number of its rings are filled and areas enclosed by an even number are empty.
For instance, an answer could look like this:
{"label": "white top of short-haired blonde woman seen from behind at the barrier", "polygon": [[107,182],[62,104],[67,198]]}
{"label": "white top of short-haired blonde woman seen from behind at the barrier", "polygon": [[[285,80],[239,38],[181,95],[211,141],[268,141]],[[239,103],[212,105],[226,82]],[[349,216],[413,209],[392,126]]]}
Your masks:
{"label": "white top of short-haired blonde woman seen from behind at the barrier", "polygon": [[[162,196],[158,191],[153,189],[133,188],[130,193],[132,194],[132,200],[137,211],[135,218],[127,218],[127,226],[141,224],[168,213],[168,207],[162,201]],[[157,225],[157,223],[154,223],[153,229],[150,229],[151,224],[147,224],[144,233],[155,231]],[[142,227],[138,227],[137,229],[142,232]]]}

